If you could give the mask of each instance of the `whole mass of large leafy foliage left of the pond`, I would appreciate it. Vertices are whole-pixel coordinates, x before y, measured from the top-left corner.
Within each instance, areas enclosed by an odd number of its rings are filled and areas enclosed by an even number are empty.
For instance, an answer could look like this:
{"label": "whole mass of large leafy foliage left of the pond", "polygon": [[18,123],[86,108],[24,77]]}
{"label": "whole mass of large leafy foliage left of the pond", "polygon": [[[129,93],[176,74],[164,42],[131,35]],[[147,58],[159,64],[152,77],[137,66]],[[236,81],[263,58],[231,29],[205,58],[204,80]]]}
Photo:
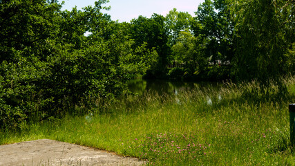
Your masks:
{"label": "whole mass of large leafy foliage left of the pond", "polygon": [[[135,46],[124,25],[102,15],[104,2],[69,12],[56,2],[1,1],[1,21],[12,27],[1,24],[0,129],[104,111],[107,100],[126,93],[127,80],[155,62],[155,50]],[[10,10],[21,12],[6,17]]]}

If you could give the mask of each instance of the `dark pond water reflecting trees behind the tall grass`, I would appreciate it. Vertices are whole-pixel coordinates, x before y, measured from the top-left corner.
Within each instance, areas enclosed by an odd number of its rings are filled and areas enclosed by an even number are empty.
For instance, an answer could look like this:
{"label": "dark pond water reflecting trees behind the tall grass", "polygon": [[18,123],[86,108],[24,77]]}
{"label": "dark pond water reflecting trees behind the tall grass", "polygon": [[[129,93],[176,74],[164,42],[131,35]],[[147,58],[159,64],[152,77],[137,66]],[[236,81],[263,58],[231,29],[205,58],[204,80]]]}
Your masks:
{"label": "dark pond water reflecting trees behind the tall grass", "polygon": [[144,93],[158,93],[162,95],[181,93],[182,91],[189,91],[191,89],[212,88],[218,89],[222,82],[182,82],[182,81],[169,81],[169,80],[130,80],[128,83],[129,90],[138,95]]}

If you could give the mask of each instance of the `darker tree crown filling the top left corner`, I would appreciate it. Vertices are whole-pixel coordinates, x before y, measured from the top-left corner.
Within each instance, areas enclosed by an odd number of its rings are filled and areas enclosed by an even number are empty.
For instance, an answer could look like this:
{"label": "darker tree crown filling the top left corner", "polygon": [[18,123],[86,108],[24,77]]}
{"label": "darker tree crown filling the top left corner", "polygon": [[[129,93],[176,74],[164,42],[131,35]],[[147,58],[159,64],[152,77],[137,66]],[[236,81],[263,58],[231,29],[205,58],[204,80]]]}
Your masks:
{"label": "darker tree crown filling the top left corner", "polygon": [[1,1],[0,2],[0,62],[15,60],[14,50],[23,56],[43,56],[48,41],[58,30],[57,1]]}

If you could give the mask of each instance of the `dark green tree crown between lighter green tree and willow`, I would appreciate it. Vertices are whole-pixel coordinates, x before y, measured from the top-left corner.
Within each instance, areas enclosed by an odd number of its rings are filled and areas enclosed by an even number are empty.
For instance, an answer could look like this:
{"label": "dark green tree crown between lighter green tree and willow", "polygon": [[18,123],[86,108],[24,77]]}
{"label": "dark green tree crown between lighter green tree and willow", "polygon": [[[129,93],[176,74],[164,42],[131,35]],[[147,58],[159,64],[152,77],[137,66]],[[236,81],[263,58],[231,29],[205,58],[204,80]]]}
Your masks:
{"label": "dark green tree crown between lighter green tree and willow", "polygon": [[208,39],[206,55],[211,57],[211,62],[217,60],[231,62],[234,55],[234,23],[231,21],[229,1],[205,0],[196,12],[193,32]]}

